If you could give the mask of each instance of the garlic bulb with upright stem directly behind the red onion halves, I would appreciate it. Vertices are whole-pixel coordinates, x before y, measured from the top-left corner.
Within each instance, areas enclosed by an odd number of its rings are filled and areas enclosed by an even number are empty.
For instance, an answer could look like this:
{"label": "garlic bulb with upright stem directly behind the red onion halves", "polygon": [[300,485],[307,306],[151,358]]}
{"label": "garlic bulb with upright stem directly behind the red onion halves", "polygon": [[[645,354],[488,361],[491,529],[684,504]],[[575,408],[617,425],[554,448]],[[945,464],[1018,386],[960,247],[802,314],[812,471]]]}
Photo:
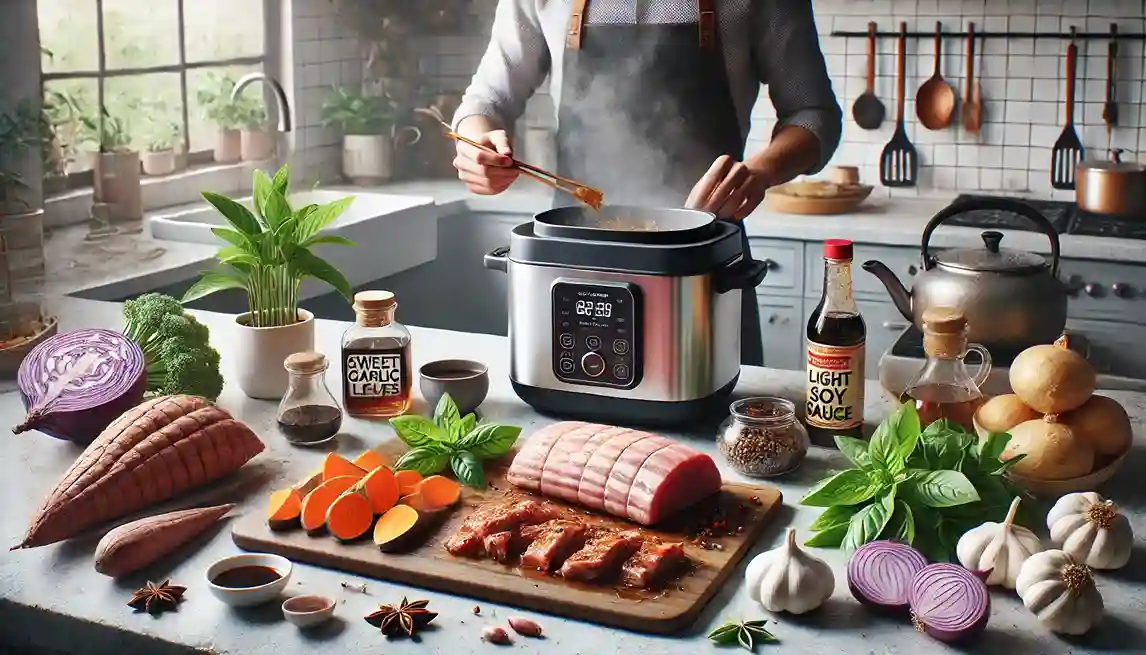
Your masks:
{"label": "garlic bulb with upright stem directly behind the red onion halves", "polygon": [[1022,562],[1042,552],[1043,544],[1034,532],[1014,524],[1019,511],[1019,498],[1011,502],[1011,510],[1002,523],[987,522],[959,537],[955,554],[963,568],[973,571],[990,571],[983,581],[990,586],[1014,589]]}

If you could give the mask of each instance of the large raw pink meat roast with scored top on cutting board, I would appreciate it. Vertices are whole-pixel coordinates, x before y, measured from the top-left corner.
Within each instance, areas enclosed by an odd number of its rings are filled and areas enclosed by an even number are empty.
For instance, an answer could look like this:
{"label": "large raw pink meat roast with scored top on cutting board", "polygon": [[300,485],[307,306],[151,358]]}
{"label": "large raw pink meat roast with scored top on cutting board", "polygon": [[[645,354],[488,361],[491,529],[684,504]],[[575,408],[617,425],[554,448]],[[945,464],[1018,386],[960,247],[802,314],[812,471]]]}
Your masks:
{"label": "large raw pink meat roast with scored top on cutting board", "polygon": [[507,479],[643,526],[720,491],[711,457],[647,432],[563,421],[534,434]]}

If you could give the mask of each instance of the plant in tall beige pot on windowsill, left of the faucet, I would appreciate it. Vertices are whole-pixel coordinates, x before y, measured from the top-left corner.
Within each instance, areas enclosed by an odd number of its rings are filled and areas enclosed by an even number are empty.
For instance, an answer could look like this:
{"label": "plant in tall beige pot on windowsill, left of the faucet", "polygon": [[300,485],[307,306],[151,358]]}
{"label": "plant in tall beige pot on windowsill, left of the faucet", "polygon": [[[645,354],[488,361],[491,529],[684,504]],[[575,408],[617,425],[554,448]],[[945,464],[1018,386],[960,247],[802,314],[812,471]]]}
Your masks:
{"label": "plant in tall beige pot on windowsill, left of the faucet", "polygon": [[93,167],[93,200],[103,205],[100,214],[112,221],[143,220],[140,153],[132,148],[127,121],[112,116],[105,106],[99,117],[85,116],[80,121],[99,147]]}

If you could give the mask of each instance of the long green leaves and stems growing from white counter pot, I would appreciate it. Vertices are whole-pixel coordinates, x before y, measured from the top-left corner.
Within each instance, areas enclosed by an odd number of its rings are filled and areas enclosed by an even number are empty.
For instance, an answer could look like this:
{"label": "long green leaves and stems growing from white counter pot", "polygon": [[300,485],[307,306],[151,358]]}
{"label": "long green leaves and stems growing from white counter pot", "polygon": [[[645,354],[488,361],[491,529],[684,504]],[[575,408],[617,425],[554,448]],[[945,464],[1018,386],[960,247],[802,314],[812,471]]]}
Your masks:
{"label": "long green leaves and stems growing from white counter pot", "polygon": [[203,194],[230,224],[211,228],[228,245],[215,254],[219,267],[204,271],[183,294],[183,302],[225,289],[242,289],[250,306],[250,326],[276,328],[298,322],[298,289],[304,278],[322,281],[347,300],[352,299],[346,277],[311,248],[319,244],[354,245],[350,239],[321,234],[346,211],[354,196],[295,208],[288,200],[289,183],[286,166],[274,179],[256,171],[253,212],[226,196]]}

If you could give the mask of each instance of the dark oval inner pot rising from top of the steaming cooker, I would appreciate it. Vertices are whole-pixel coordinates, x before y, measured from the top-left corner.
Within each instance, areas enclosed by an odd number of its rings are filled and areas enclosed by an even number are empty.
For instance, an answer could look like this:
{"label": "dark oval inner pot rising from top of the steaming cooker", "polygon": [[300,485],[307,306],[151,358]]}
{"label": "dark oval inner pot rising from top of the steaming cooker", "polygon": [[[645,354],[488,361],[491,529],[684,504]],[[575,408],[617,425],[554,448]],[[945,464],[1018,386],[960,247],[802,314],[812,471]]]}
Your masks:
{"label": "dark oval inner pot rising from top of the steaming cooker", "polygon": [[688,244],[713,236],[716,216],[697,210],[610,205],[558,207],[533,219],[539,237],[634,244]]}

